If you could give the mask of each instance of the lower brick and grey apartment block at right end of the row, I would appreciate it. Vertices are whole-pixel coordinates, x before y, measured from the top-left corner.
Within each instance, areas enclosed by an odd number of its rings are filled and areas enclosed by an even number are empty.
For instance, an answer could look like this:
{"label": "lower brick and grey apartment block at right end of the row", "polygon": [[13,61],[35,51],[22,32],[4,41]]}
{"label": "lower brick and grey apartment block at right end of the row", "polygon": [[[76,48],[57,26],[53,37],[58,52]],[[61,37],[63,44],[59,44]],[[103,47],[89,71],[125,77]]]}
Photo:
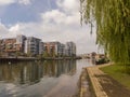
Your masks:
{"label": "lower brick and grey apartment block at right end of the row", "polygon": [[66,44],[60,42],[46,42],[44,52],[50,56],[76,56],[76,44],[67,42]]}

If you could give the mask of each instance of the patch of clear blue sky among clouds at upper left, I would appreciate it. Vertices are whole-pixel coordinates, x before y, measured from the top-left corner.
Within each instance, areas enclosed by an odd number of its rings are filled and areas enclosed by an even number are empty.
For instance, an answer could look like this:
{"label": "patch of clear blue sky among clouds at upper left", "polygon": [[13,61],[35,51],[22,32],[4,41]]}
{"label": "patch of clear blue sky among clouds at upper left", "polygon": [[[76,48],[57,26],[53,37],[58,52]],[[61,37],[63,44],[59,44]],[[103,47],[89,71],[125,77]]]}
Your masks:
{"label": "patch of clear blue sky among clouds at upper left", "polygon": [[[10,0],[9,0],[10,1]],[[22,1],[22,0],[20,0]],[[28,3],[13,2],[6,5],[0,6],[0,17],[2,23],[15,24],[17,22],[28,23],[38,22],[39,13],[43,13],[51,9],[56,9],[54,0],[30,0]]]}

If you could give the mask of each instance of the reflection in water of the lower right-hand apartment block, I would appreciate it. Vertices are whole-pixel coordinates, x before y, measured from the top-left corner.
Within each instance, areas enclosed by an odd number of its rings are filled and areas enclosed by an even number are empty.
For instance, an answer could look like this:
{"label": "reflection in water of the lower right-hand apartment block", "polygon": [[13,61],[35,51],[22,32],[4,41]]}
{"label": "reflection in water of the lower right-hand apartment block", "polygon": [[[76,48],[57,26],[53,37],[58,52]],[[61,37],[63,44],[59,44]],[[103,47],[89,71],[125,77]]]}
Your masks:
{"label": "reflection in water of the lower right-hand apartment block", "polygon": [[76,60],[56,60],[48,61],[44,65],[44,75],[60,77],[61,74],[75,74]]}

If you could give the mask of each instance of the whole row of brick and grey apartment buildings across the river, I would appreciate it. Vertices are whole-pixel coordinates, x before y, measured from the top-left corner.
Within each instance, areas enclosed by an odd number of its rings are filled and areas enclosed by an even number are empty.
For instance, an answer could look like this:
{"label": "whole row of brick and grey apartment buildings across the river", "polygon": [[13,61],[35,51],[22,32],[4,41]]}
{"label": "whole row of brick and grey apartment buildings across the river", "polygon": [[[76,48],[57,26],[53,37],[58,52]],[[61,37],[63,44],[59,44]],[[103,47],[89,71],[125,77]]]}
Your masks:
{"label": "whole row of brick and grey apartment buildings across the river", "polygon": [[76,56],[76,44],[67,42],[63,44],[58,41],[42,42],[41,39],[35,37],[26,37],[23,34],[16,38],[1,39],[0,40],[0,55],[30,55],[36,56],[47,53],[51,57],[62,56]]}

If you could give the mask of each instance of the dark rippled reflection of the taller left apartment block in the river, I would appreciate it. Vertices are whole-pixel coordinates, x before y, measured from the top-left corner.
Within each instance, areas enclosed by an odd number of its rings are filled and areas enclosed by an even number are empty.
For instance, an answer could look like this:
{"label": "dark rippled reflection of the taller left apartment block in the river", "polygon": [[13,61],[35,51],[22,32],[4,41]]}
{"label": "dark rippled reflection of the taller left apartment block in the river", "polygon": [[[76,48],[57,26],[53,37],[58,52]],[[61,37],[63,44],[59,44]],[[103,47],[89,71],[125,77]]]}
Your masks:
{"label": "dark rippled reflection of the taller left apartment block in the river", "polygon": [[43,65],[36,65],[36,63],[0,66],[0,81],[15,84],[32,84],[39,82],[42,77]]}

